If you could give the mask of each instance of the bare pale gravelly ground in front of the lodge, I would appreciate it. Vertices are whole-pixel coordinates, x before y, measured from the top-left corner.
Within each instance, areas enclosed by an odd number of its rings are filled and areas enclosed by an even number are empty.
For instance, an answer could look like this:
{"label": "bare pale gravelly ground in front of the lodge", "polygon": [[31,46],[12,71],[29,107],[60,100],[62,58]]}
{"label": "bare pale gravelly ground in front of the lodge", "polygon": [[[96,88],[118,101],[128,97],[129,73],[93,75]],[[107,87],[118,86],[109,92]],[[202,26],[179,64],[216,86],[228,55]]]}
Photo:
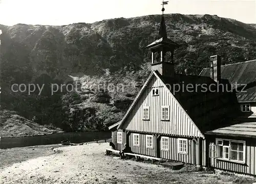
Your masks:
{"label": "bare pale gravelly ground in front of the lodge", "polygon": [[119,157],[104,155],[105,149],[110,147],[108,143],[59,147],[55,151],[51,147],[52,145],[0,150],[0,183],[256,182],[255,178],[249,176],[209,174],[194,172],[193,169],[191,172],[189,169],[174,171],[159,165],[120,160]]}

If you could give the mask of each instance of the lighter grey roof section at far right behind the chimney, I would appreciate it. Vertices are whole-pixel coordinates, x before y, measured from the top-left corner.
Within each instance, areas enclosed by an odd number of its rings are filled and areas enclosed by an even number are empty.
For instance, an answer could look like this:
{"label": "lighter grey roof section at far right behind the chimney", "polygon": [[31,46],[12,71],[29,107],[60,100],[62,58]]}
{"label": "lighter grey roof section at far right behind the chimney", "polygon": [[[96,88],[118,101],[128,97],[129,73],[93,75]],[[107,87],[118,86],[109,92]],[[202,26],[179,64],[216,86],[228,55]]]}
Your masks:
{"label": "lighter grey roof section at far right behind the chimney", "polygon": [[[200,76],[209,77],[210,68],[204,68]],[[256,102],[256,60],[222,65],[221,78],[233,86],[241,85],[240,92],[237,92],[239,102]],[[242,85],[247,85],[243,91]]]}

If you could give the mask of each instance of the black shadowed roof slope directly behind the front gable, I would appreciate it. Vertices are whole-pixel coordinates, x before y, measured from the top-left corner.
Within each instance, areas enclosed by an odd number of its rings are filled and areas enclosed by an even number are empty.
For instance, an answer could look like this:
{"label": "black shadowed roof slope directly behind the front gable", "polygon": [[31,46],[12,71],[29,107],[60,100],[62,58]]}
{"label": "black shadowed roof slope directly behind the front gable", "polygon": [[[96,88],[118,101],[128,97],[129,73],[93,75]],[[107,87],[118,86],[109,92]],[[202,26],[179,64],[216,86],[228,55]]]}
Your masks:
{"label": "black shadowed roof slope directly behind the front gable", "polygon": [[[171,87],[170,91],[202,133],[231,124],[238,114],[236,94],[225,89],[218,90],[210,77],[176,74],[174,77],[162,77],[162,80]],[[230,86],[227,80],[221,83]],[[178,84],[181,87],[179,91],[175,89]],[[186,90],[187,86],[193,88]]]}

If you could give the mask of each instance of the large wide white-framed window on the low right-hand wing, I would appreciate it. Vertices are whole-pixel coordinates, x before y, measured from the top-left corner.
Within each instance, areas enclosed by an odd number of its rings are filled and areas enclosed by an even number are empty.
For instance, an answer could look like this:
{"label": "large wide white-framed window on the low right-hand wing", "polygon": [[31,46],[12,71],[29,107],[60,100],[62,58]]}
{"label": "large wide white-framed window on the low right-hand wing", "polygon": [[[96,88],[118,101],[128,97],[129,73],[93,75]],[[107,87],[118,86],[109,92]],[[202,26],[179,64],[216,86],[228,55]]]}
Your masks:
{"label": "large wide white-framed window on the low right-hand wing", "polygon": [[218,158],[245,162],[245,141],[216,139],[216,146]]}

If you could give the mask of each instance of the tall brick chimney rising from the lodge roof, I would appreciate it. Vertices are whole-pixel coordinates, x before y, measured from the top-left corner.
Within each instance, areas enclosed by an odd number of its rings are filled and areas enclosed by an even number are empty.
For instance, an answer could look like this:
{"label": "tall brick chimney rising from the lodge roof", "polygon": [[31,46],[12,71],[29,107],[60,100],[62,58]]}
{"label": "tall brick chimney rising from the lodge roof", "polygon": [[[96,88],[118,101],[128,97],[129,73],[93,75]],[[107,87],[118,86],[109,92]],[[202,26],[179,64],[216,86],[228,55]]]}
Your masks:
{"label": "tall brick chimney rising from the lodge roof", "polygon": [[210,77],[215,82],[221,80],[221,57],[218,55],[210,57]]}

